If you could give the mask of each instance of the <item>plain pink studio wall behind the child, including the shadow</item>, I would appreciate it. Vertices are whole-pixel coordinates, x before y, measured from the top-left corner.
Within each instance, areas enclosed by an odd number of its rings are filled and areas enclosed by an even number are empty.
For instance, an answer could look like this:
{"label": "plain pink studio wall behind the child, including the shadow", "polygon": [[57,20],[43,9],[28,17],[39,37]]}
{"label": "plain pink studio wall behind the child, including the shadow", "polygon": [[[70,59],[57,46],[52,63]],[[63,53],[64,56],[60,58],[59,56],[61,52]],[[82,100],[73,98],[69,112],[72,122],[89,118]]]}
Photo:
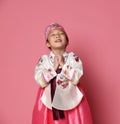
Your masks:
{"label": "plain pink studio wall behind the child, including the shadow", "polygon": [[48,53],[44,28],[63,25],[94,124],[120,124],[120,1],[0,0],[0,124],[30,124],[39,86],[34,68]]}

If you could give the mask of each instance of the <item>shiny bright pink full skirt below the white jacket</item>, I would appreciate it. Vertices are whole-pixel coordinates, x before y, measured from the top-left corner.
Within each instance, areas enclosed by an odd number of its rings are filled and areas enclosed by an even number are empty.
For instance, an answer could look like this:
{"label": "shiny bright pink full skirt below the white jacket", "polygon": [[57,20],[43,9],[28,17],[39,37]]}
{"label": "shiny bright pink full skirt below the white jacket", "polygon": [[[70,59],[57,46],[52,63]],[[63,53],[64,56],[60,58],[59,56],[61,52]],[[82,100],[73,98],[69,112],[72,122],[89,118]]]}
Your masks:
{"label": "shiny bright pink full skirt below the white jacket", "polygon": [[85,93],[81,87],[79,89],[84,95],[81,103],[72,110],[64,111],[64,119],[54,120],[52,110],[48,109],[40,100],[44,89],[39,88],[32,114],[32,124],[92,124],[92,116]]}

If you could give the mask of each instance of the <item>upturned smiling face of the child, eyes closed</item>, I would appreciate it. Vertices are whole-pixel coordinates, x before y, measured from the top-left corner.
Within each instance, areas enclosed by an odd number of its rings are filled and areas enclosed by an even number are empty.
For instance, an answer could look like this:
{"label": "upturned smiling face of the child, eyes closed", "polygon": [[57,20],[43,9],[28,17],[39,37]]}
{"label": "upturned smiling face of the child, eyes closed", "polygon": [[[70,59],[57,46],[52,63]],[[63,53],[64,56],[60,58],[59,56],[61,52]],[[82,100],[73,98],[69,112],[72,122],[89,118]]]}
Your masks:
{"label": "upturned smiling face of the child, eyes closed", "polygon": [[67,44],[66,34],[62,30],[53,30],[48,35],[47,46],[50,49],[65,49]]}

